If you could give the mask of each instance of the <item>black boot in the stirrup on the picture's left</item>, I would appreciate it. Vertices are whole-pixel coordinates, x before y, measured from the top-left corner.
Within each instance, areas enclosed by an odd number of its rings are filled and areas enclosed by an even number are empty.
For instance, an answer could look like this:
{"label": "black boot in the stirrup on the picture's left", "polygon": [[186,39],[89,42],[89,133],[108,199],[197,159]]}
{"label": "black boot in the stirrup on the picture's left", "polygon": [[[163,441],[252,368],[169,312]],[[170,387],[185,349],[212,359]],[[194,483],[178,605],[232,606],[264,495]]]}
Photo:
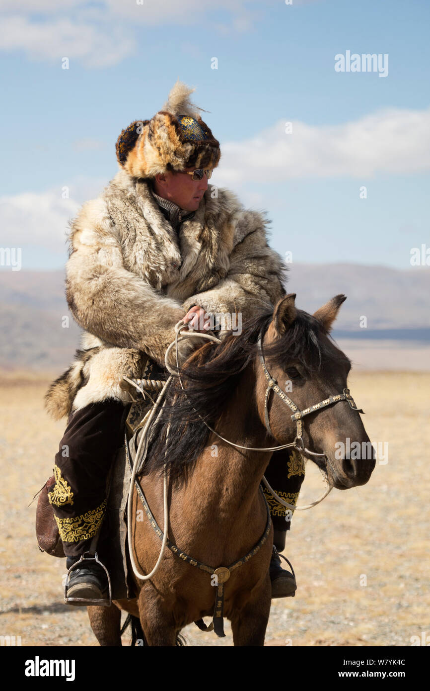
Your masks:
{"label": "black boot in the stirrup on the picture's left", "polygon": [[[80,558],[79,556],[68,557],[67,569],[70,569]],[[104,568],[95,561],[84,559],[81,565],[70,571],[66,597],[88,600],[87,602],[68,603],[68,605],[75,605],[76,607],[87,607],[87,605],[92,604],[92,600],[108,599],[109,585]]]}

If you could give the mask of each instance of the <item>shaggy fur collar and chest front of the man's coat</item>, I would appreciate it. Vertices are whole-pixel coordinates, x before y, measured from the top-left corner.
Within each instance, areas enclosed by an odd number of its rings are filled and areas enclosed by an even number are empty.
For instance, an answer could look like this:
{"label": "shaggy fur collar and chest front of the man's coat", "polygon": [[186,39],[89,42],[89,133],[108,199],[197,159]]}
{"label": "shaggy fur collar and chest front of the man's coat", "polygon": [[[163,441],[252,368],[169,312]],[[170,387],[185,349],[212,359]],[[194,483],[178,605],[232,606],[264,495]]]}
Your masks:
{"label": "shaggy fur collar and chest front of the man's coat", "polygon": [[228,216],[240,205],[233,193],[219,193],[213,199],[208,188],[193,217],[175,231],[159,208],[150,183],[120,170],[104,197],[119,231],[126,268],[156,290],[169,286],[168,294],[177,297],[183,292],[179,286],[189,289],[186,278],[196,268],[199,257],[202,269],[193,276],[196,290],[208,290],[224,278],[232,245],[225,243],[230,238],[222,238],[222,233]]}

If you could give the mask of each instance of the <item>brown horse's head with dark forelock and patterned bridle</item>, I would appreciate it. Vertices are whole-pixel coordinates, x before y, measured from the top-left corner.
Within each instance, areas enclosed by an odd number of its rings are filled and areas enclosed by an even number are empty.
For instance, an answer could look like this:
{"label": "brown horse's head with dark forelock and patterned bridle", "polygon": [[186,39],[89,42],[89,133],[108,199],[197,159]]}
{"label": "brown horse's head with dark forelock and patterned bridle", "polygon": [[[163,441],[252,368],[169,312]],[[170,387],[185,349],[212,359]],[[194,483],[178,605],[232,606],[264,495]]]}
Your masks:
{"label": "brown horse's head with dark forelock and patterned bridle", "polygon": [[[263,424],[278,444],[296,439],[297,448],[324,454],[302,452],[325,467],[337,489],[365,484],[375,467],[360,413],[344,392],[351,362],[329,337],[345,299],[337,295],[311,316],[297,310],[295,294],[285,296],[262,338],[262,357],[255,361]],[[307,410],[315,404],[320,405]]]}

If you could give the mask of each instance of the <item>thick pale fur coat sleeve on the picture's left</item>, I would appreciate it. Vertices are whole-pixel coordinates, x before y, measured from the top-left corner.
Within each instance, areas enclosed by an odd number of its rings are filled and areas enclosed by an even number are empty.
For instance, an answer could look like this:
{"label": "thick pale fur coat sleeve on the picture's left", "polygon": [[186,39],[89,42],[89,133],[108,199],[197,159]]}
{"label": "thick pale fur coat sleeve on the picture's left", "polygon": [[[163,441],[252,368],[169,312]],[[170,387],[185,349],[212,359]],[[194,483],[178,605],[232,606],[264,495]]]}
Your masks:
{"label": "thick pale fur coat sleeve on the picture's left", "polygon": [[184,308],[124,268],[120,239],[103,199],[84,205],[69,241],[66,298],[77,323],[108,343],[144,350],[164,365]]}

